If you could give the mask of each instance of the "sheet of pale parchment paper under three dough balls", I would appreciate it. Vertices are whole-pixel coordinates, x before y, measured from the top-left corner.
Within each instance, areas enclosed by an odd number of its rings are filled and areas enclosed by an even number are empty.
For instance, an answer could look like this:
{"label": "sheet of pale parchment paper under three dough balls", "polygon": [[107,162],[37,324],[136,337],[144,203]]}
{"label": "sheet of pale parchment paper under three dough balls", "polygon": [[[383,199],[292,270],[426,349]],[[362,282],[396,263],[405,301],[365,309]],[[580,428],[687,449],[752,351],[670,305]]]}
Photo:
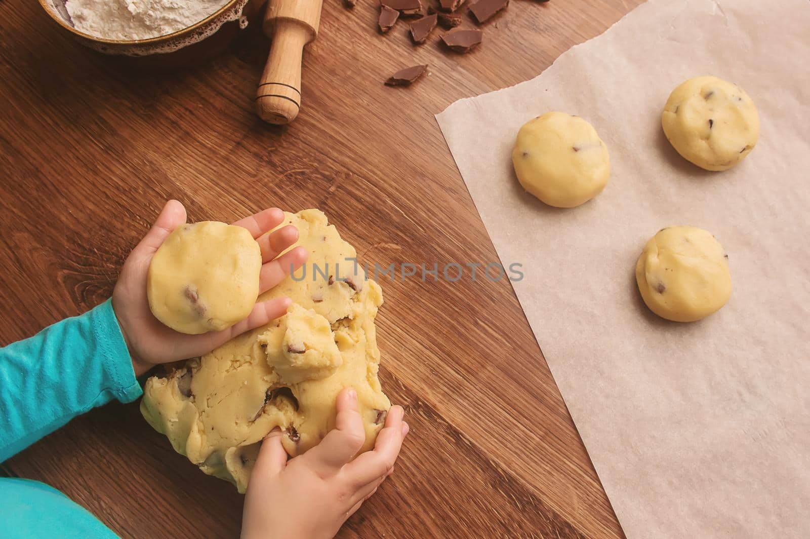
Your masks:
{"label": "sheet of pale parchment paper under three dough balls", "polygon": [[[587,16],[587,14],[583,14]],[[697,75],[757,104],[757,147],[689,164],[660,114]],[[650,0],[539,77],[437,115],[628,537],[810,537],[810,2]],[[518,128],[590,121],[612,174],[581,207],[518,185]],[[731,300],[701,322],[650,314],[633,268],[667,225],[710,230]],[[539,455],[542,458],[542,455]]]}

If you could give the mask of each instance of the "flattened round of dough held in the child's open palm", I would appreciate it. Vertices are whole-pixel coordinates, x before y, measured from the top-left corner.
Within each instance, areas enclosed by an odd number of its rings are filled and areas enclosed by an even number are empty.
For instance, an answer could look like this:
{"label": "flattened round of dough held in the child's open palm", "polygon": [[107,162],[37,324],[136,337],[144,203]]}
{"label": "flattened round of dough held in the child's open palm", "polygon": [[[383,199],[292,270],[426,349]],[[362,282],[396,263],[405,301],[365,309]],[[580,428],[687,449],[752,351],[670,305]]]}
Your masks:
{"label": "flattened round of dough held in the child's open palm", "polygon": [[181,333],[231,327],[253,310],[262,251],[247,229],[216,221],[182,225],[152,257],[149,308]]}

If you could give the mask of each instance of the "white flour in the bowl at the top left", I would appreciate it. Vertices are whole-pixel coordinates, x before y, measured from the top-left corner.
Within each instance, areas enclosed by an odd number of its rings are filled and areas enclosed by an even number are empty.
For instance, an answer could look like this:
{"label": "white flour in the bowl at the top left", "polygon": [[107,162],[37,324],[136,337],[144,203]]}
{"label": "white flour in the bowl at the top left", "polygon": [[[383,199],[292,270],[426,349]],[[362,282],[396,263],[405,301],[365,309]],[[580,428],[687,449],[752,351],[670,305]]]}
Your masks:
{"label": "white flour in the bowl at the top left", "polygon": [[113,40],[165,36],[213,15],[228,0],[67,0],[80,32]]}

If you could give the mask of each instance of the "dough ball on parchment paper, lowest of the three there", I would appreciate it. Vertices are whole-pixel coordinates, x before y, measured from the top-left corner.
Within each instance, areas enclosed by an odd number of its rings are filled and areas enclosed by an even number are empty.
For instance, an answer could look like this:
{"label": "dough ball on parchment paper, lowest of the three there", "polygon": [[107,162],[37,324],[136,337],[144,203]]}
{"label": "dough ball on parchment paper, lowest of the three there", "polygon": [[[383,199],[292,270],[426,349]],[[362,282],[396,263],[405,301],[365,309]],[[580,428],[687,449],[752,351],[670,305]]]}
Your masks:
{"label": "dough ball on parchment paper, lowest of the three there", "polygon": [[671,226],[650,238],[636,263],[636,282],[650,310],[675,322],[694,322],[731,296],[723,246],[693,226]]}

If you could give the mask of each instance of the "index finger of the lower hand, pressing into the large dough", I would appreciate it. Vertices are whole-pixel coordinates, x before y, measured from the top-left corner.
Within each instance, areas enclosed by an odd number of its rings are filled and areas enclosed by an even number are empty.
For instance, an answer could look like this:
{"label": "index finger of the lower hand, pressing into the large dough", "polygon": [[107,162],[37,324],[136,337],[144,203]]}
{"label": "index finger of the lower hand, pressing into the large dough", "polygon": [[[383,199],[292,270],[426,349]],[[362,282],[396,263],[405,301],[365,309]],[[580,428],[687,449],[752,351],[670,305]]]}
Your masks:
{"label": "index finger of the lower hand, pressing into the large dough", "polygon": [[340,391],[337,408],[335,429],[304,454],[312,467],[323,475],[338,473],[365,442],[363,420],[357,409],[357,392],[353,387]]}

